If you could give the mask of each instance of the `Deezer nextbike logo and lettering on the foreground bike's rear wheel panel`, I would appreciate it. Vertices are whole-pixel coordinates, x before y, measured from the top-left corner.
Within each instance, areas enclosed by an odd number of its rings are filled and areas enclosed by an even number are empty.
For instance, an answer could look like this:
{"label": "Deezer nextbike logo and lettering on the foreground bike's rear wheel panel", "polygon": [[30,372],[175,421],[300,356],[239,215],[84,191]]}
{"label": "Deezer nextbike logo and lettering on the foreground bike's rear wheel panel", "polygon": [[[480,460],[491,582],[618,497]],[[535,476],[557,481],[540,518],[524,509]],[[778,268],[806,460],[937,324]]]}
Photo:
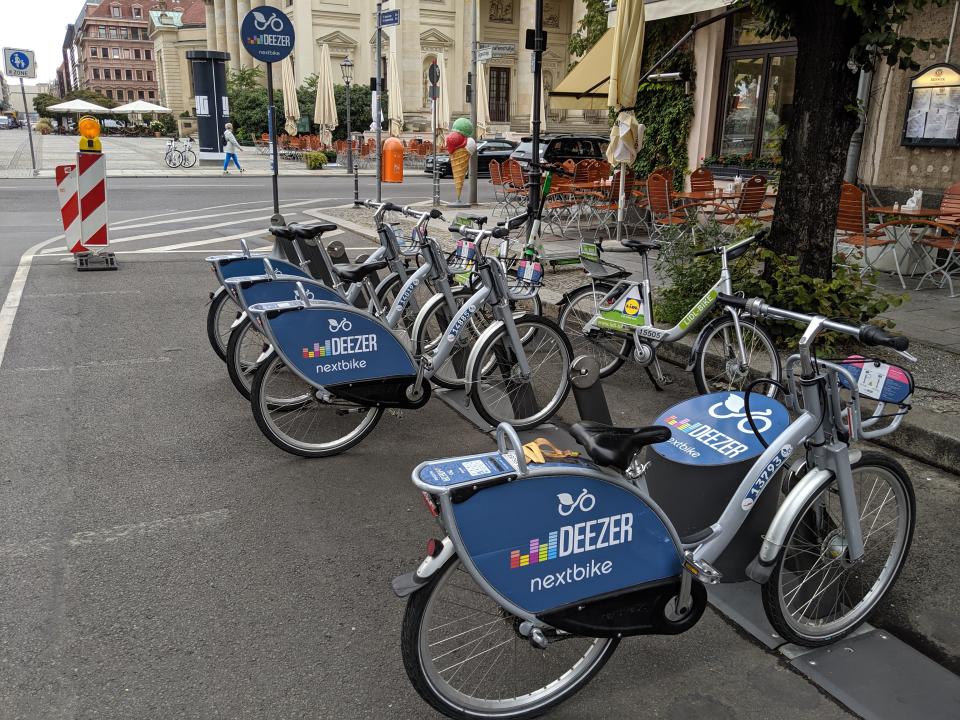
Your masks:
{"label": "Deezer nextbike logo and lettering on the foreground bike's rear wheel panel", "polygon": [[[586,490],[576,499],[569,493],[557,495],[559,505],[557,512],[567,517],[575,510],[589,512],[596,504],[596,498]],[[633,513],[620,513],[607,517],[586,520],[564,525],[547,534],[546,539],[533,538],[529,545],[510,552],[510,568],[515,570],[530,565],[557,560],[560,558],[580,555],[583,553],[602,550],[603,548],[622,545],[633,540]],[[543,577],[530,580],[530,592],[550,589],[564,583],[573,583],[606,575],[613,569],[613,562],[590,561],[581,566],[574,563],[571,567],[560,572],[549,573]]]}

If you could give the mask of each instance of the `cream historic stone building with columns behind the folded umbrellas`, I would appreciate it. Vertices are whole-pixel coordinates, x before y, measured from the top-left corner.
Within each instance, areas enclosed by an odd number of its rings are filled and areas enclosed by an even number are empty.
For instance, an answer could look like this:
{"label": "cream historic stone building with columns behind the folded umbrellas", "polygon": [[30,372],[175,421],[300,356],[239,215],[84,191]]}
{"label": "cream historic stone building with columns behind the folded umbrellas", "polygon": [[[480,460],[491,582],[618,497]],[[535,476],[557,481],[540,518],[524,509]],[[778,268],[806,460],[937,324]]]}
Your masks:
{"label": "cream historic stone building with columns behind the folded umbrellas", "polygon": [[[286,13],[296,31],[294,66],[298,82],[318,71],[320,47],[330,47],[333,76],[339,82],[340,63],[350,58],[354,80],[369,82],[376,74],[376,5],[373,0],[204,0],[207,47],[230,53],[230,66],[252,67],[254,61],[240,47],[239,22],[251,8],[269,6]],[[411,130],[429,127],[427,69],[443,53],[454,116],[467,114],[467,72],[470,69],[471,11],[465,0],[390,0],[385,10],[399,10],[400,24],[383,32],[384,82],[389,63],[402,65],[403,111]],[[544,55],[544,86],[551,88],[571,62],[567,49],[570,33],[583,17],[583,0],[545,0],[544,26],[548,48]],[[495,130],[526,132],[529,124],[533,77],[530,51],[524,49],[527,28],[534,24],[533,0],[479,0],[478,38],[481,47],[493,45],[493,59],[486,63],[486,82],[491,120]],[[389,92],[394,88],[388,87]],[[551,111],[547,102],[548,130],[606,128],[600,112]]]}

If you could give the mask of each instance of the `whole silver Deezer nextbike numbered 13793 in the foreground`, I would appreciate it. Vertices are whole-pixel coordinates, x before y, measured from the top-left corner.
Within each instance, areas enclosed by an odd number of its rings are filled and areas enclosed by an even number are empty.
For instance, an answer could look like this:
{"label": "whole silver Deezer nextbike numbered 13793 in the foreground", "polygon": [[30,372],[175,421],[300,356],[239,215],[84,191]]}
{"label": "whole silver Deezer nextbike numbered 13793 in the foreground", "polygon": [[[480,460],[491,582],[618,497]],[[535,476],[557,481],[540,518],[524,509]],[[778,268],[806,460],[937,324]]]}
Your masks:
{"label": "whole silver Deezer nextbike numbered 13793 in the foreground", "polygon": [[[435,709],[460,719],[533,717],[586,685],[622,638],[689,630],[706,606],[704,585],[721,580],[718,559],[762,494],[778,487],[779,507],[760,526],[762,542],[754,538],[759,552],[743,565],[786,641],[814,647],[847,635],[893,585],[913,536],[913,488],[894,460],[850,443],[895,430],[913,383],[878,360],[819,359],[814,342],[830,331],[906,355],[906,338],[758,299],[719,300],[756,319],[806,325],[782,385],[792,422],[784,405],[752,393],[771,382],[760,379],[743,392],[688,401],[708,422],[665,418],[690,432],[676,438],[668,426],[581,422],[571,432],[587,458],[541,452],[534,462],[538,453],[528,460],[504,423],[495,452],[413,471],[445,537],[431,540],[419,567],[393,588],[407,598],[406,671]],[[868,399],[876,404],[869,417],[861,414]],[[746,474],[734,468],[735,489],[721,496],[716,519],[681,536],[651,497],[656,478],[641,462],[640,452],[660,443],[716,451],[694,481],[712,483],[721,456],[750,451],[756,460]]]}

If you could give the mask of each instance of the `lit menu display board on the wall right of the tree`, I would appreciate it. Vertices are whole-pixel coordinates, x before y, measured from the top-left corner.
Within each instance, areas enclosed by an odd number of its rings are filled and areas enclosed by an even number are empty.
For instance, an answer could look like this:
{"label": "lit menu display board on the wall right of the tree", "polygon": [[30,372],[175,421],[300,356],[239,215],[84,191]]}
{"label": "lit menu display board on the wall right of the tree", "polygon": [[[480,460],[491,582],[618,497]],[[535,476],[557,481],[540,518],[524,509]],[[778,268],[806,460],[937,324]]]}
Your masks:
{"label": "lit menu display board on the wall right of the tree", "polygon": [[960,70],[933,65],[910,81],[903,144],[960,147]]}

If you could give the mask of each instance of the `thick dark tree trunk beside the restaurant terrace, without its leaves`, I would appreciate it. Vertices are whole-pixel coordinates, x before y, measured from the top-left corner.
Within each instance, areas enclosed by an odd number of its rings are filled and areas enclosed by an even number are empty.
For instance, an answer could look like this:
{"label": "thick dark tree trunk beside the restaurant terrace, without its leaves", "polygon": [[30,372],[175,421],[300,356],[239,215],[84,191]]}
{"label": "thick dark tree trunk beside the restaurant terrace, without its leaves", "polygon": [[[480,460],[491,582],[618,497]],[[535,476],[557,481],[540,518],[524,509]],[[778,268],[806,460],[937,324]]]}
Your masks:
{"label": "thick dark tree trunk beside the restaurant terrace, without its leaves", "polygon": [[790,12],[796,82],[771,242],[780,255],[798,256],[802,273],[829,279],[847,148],[858,122],[858,75],[847,61],[860,27],[833,0],[804,0]]}

